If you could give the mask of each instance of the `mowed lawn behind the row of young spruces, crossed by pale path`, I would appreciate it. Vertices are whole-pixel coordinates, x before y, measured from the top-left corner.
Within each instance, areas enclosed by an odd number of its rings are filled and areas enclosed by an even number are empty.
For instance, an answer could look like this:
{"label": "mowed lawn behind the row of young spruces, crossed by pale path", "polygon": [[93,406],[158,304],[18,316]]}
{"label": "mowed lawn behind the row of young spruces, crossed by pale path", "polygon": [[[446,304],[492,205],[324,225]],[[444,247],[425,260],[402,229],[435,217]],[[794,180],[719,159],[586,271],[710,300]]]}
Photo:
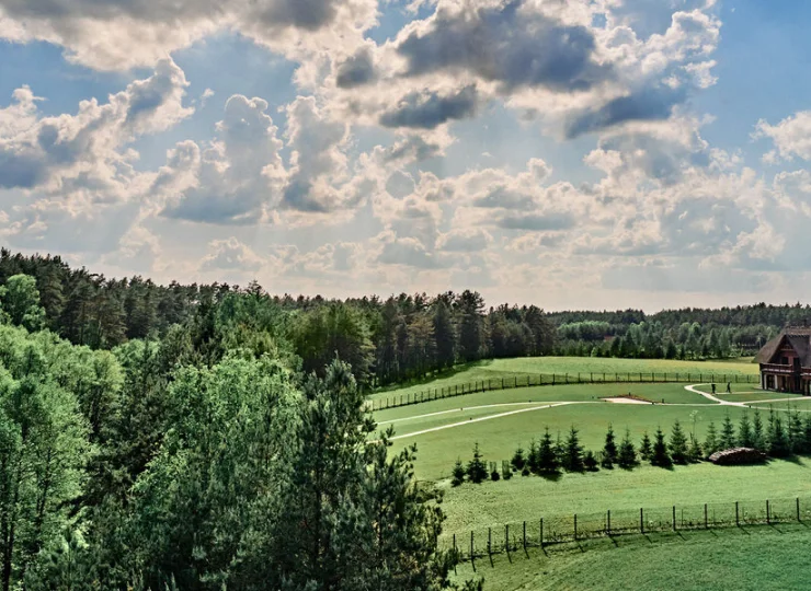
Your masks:
{"label": "mowed lawn behind the row of young spruces, crossed by pale path", "polygon": [[[662,397],[666,399],[669,393],[674,397],[682,396],[677,389],[671,389],[673,384],[661,385],[661,387],[664,386],[667,386],[666,391],[656,391],[659,392],[656,395],[660,399]],[[580,386],[561,386],[557,389],[560,392],[550,392],[544,399],[538,399],[537,405],[470,408],[470,406],[477,405],[471,405],[466,399],[465,404],[468,406],[462,406],[459,401],[467,397],[460,397],[399,408],[396,409],[397,415],[395,415],[395,409],[376,413],[376,418],[377,420],[397,419],[396,422],[380,424],[380,428],[387,428],[389,425],[392,425],[396,429],[397,439],[393,442],[392,451],[401,449],[407,444],[416,443],[418,459],[414,464],[416,477],[420,479],[438,480],[450,475],[450,470],[457,457],[466,462],[471,455],[473,444],[477,442],[486,460],[501,464],[502,460],[510,460],[518,447],[526,449],[533,439],[538,440],[546,427],[549,427],[552,437],[557,438],[558,433],[561,437],[566,437],[573,426],[580,431],[582,444],[587,449],[597,451],[603,447],[608,424],[614,426],[618,438],[621,438],[625,429],[628,428],[635,442],[639,442],[644,431],[648,431],[652,437],[658,426],[661,426],[662,430],[667,433],[676,419],[682,422],[687,432],[690,432],[695,419],[696,436],[703,440],[710,421],[715,421],[716,426],[720,426],[720,422],[729,414],[732,420],[738,424],[741,414],[744,412],[739,407],[705,404],[707,402],[706,398],[703,398],[698,394],[685,392],[682,387],[681,392],[690,396],[686,398],[690,399],[690,403],[681,403],[684,405],[674,406],[661,404],[614,404],[597,402],[596,399],[583,401],[583,395],[581,394],[580,401],[574,401],[575,404],[515,413],[518,409],[540,407],[555,402],[567,401],[567,390],[571,390],[569,396],[574,397],[576,394],[574,389]],[[607,385],[590,387],[594,390],[595,396],[597,394],[604,395],[606,394],[606,390],[610,390]],[[538,390],[551,391],[553,389]],[[639,384],[633,389],[633,393],[638,395],[648,394],[651,397],[654,395],[654,392],[646,392]],[[491,395],[494,394],[491,393]],[[492,403],[492,397],[490,401]],[[452,404],[456,402],[457,406],[438,406],[441,402]],[[484,399],[478,402],[481,402],[482,405],[491,404]],[[432,405],[437,406],[432,408]],[[454,410],[453,408],[459,410]],[[442,414],[434,415],[434,413]],[[511,414],[498,416],[506,413]],[[386,414],[389,416],[385,416]],[[413,418],[409,419],[409,417]],[[427,429],[435,430],[423,432]]]}

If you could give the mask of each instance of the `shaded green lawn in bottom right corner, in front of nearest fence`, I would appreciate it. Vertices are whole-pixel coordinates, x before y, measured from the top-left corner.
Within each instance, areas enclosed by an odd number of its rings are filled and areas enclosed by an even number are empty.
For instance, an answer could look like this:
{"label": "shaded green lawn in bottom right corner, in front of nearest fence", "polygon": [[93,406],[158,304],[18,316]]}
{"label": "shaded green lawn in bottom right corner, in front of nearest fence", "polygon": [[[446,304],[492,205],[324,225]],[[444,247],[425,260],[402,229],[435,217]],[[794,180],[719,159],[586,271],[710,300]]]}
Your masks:
{"label": "shaded green lawn in bottom right corner, in front of nearest fence", "polygon": [[462,564],[456,578],[483,577],[486,591],[808,589],[810,542],[800,524],[615,537]]}

